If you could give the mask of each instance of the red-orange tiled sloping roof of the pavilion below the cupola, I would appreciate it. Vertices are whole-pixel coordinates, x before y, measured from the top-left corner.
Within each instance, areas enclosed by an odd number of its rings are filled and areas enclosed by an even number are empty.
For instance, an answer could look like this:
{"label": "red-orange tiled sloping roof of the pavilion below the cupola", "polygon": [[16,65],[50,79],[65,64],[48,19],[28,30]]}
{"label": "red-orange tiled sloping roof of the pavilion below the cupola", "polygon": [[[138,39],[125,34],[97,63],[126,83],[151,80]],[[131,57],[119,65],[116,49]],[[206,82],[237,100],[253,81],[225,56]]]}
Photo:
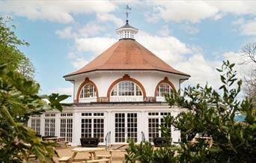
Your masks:
{"label": "red-orange tiled sloping roof of the pavilion below the cupola", "polygon": [[85,67],[64,77],[97,70],[159,70],[189,76],[175,70],[135,40],[123,39],[106,49]]}

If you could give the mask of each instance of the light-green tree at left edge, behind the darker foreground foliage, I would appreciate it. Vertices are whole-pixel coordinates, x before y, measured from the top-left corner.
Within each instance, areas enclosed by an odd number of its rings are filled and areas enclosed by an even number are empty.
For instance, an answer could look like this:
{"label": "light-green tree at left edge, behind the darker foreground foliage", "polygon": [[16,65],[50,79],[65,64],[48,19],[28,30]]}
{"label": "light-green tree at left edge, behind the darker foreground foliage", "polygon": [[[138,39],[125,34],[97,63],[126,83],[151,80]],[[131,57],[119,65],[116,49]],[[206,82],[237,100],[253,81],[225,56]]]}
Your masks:
{"label": "light-green tree at left edge, behind the darker foreground foliage", "polygon": [[7,69],[18,71],[21,76],[31,80],[34,77],[34,66],[17,48],[29,44],[16,37],[15,26],[8,26],[10,21],[10,18],[0,16],[0,64],[7,64]]}

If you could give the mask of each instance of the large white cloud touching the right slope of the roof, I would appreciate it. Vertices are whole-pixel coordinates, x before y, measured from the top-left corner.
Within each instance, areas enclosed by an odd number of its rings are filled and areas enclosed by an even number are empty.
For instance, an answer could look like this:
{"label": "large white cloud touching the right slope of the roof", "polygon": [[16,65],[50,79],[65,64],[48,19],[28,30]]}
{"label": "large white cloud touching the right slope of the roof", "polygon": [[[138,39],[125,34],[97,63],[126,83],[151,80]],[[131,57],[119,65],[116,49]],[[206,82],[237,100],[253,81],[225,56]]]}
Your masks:
{"label": "large white cloud touching the right slope of the roof", "polygon": [[240,79],[252,70],[252,65],[241,65],[243,55],[239,52],[225,52],[219,58],[210,60],[204,56],[200,47],[188,46],[176,37],[153,36],[140,32],[136,40],[171,67],[191,75],[192,77],[185,84],[204,85],[208,83],[215,89],[219,89],[221,83],[216,68],[222,66],[222,59],[236,64]]}

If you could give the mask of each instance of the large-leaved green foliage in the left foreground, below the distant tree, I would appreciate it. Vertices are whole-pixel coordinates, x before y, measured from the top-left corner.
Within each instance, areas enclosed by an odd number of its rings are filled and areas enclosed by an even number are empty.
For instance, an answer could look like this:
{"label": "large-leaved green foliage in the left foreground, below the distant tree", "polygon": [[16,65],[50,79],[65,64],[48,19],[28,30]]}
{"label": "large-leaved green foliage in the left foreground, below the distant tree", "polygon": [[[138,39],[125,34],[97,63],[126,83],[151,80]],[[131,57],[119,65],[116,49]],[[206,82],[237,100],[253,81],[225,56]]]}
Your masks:
{"label": "large-leaved green foliage in the left foreground, below the distant tree", "polygon": [[[40,162],[51,162],[55,150],[51,142],[43,142],[33,129],[24,126],[28,117],[58,109],[68,96],[38,96],[39,84],[0,66],[0,162],[22,162],[34,153]],[[49,104],[44,99],[49,99]]]}

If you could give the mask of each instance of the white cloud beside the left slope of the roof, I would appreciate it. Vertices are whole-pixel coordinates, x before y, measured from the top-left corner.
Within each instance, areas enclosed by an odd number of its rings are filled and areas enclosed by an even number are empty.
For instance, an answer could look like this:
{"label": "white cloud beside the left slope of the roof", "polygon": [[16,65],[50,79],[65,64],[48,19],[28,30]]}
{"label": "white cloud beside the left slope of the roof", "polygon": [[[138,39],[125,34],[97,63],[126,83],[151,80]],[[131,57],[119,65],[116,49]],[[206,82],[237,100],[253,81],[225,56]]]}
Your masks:
{"label": "white cloud beside the left slope of the roof", "polygon": [[[104,30],[105,28],[96,22],[88,22],[82,28],[73,29],[68,26],[55,33],[61,38],[71,38],[74,40],[75,45],[67,54],[67,58],[74,68],[80,69],[88,64],[88,61],[91,61],[95,55],[100,55],[117,41],[111,37],[92,37]],[[87,52],[91,53],[91,57],[88,58]]]}

